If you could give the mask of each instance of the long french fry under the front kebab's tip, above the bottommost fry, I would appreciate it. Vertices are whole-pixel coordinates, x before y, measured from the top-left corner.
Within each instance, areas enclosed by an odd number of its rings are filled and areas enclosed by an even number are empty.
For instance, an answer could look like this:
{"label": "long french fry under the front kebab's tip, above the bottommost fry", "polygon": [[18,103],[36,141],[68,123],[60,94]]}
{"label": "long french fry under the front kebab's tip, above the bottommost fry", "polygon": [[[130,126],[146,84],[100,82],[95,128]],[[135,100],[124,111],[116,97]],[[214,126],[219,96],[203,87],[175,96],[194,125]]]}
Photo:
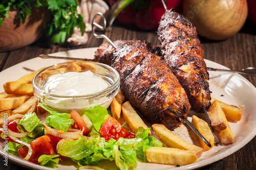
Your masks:
{"label": "long french fry under the front kebab's tip, above the bottommost fry", "polygon": [[197,145],[188,143],[182,138],[176,136],[172,131],[167,129],[162,124],[154,124],[152,125],[152,128],[156,133],[156,135],[158,136],[158,138],[160,139],[160,141],[165,143],[170,148],[194,151],[197,155],[197,158],[200,158],[200,156],[204,151],[202,148],[198,147]]}

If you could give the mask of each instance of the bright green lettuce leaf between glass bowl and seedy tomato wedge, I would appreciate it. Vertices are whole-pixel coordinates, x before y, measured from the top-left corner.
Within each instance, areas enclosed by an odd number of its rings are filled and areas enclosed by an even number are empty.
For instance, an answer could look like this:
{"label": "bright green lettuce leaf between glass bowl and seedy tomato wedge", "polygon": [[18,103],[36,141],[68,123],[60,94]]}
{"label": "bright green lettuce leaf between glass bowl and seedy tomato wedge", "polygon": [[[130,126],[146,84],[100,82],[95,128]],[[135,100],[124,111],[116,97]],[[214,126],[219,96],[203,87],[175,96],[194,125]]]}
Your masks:
{"label": "bright green lettuce leaf between glass bowl and seedy tomato wedge", "polygon": [[108,110],[102,106],[93,106],[81,110],[81,113],[86,114],[89,117],[97,132],[99,132],[104,120],[109,117]]}

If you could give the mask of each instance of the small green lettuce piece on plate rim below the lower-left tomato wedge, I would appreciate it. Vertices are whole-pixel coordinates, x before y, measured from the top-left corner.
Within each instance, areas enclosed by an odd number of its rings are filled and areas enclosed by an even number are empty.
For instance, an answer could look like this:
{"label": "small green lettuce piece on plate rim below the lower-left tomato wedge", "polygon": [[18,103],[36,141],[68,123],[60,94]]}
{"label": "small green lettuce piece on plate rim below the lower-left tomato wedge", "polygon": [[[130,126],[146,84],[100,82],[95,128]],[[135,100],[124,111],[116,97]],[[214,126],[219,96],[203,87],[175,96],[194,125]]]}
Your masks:
{"label": "small green lettuce piece on plate rim below the lower-left tomato wedge", "polygon": [[38,158],[38,164],[46,167],[58,167],[59,155],[41,155]]}

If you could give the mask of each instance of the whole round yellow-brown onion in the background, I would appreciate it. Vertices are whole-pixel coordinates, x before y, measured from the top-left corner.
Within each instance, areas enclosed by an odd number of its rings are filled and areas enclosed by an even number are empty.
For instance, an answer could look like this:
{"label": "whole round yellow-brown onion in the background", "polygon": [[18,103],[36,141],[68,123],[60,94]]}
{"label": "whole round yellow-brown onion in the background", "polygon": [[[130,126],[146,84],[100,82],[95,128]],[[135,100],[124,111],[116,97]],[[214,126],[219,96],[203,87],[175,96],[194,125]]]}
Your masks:
{"label": "whole round yellow-brown onion in the background", "polygon": [[185,0],[183,13],[197,28],[199,35],[224,40],[243,27],[248,7],[246,0]]}

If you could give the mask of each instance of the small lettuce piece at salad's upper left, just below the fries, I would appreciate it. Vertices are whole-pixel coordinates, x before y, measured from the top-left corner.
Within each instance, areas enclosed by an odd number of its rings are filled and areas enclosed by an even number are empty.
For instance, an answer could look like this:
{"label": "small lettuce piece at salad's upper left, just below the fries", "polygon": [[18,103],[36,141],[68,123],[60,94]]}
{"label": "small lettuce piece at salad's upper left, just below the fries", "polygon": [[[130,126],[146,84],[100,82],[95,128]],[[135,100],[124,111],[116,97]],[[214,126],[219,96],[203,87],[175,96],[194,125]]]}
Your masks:
{"label": "small lettuce piece at salad's upper left, just below the fries", "polygon": [[27,113],[22,119],[20,119],[18,125],[22,125],[26,131],[32,132],[35,127],[40,125],[40,119],[36,116],[36,113]]}

